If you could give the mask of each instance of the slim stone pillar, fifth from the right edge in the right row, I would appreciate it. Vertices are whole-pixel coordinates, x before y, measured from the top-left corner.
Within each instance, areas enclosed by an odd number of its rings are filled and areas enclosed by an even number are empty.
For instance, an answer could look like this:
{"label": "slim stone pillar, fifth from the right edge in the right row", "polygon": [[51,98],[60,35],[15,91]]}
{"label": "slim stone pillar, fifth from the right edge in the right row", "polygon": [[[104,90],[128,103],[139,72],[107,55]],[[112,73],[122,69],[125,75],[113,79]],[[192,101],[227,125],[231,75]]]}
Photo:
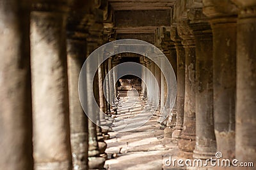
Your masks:
{"label": "slim stone pillar, fifth from the right edge in the right row", "polygon": [[185,95],[185,50],[181,39],[177,34],[177,27],[172,27],[171,38],[175,41],[177,52],[177,120],[172,133],[173,138],[180,138],[184,118],[184,95]]}

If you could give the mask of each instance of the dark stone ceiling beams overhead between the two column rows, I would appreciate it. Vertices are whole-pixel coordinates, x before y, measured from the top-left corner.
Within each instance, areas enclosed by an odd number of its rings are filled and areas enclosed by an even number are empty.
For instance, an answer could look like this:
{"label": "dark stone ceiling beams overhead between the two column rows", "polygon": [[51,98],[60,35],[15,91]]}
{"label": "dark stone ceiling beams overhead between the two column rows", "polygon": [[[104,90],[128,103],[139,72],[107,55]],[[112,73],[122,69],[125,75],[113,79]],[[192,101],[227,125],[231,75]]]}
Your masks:
{"label": "dark stone ceiling beams overhead between the two column rows", "polygon": [[109,0],[116,39],[154,43],[157,27],[170,27],[175,0]]}

